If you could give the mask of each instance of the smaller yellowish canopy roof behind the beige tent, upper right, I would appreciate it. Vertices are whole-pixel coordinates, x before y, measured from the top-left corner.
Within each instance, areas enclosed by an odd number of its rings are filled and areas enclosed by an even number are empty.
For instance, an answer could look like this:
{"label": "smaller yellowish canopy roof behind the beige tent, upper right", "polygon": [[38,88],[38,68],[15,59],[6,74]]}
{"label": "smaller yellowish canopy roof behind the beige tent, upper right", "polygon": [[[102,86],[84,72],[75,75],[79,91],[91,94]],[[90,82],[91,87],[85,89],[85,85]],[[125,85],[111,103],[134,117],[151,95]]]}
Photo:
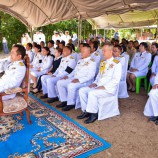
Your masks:
{"label": "smaller yellowish canopy roof behind the beige tent, upper right", "polygon": [[102,15],[88,20],[93,29],[138,28],[157,25],[158,10],[131,11],[124,14]]}

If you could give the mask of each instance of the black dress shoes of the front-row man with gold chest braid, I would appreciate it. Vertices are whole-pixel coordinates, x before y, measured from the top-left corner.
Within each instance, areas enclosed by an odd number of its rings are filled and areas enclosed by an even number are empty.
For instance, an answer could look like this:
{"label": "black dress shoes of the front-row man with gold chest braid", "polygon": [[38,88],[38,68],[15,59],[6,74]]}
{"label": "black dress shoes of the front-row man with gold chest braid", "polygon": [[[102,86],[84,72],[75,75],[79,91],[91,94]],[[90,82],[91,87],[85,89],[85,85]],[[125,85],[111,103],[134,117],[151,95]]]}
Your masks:
{"label": "black dress shoes of the front-row man with gold chest braid", "polygon": [[88,124],[96,121],[98,119],[98,114],[83,112],[81,115],[77,116],[77,119],[84,119],[86,117],[88,117],[88,119],[86,119],[84,123]]}

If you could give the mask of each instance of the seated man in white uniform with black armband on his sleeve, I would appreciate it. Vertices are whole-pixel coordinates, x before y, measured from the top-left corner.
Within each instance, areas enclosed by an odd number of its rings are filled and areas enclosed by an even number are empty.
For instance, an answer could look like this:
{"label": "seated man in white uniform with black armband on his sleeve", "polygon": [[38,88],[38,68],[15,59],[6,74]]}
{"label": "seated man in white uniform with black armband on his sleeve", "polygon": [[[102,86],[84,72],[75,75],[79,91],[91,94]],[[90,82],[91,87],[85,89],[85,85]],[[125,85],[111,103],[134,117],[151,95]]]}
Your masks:
{"label": "seated man in white uniform with black armband on his sleeve", "polygon": [[58,69],[52,75],[44,75],[41,77],[43,96],[42,99],[49,98],[48,103],[58,101],[56,92],[56,83],[61,78],[70,74],[76,66],[75,59],[71,56],[72,48],[65,46],[63,49],[63,58]]}

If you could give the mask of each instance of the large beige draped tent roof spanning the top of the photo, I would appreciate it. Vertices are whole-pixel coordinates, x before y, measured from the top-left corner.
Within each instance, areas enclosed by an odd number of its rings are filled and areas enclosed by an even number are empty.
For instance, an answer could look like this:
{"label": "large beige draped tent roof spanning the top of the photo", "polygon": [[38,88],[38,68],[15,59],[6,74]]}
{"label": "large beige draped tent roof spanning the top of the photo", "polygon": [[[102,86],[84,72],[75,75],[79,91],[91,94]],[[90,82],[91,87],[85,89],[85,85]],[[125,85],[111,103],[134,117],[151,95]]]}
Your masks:
{"label": "large beige draped tent roof spanning the top of the photo", "polygon": [[157,0],[1,0],[0,10],[27,26],[39,27],[72,18],[89,19],[158,8]]}

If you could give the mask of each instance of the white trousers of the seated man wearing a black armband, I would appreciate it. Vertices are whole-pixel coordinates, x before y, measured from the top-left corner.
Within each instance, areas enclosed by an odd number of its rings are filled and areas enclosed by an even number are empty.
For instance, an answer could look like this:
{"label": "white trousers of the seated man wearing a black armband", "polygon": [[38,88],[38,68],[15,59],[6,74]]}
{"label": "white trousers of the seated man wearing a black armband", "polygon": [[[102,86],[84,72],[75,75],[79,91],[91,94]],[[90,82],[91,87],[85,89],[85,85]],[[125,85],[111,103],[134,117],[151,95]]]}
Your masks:
{"label": "white trousers of the seated man wearing a black armband", "polygon": [[44,75],[41,77],[43,94],[48,94],[49,98],[57,97],[56,83],[59,77]]}

